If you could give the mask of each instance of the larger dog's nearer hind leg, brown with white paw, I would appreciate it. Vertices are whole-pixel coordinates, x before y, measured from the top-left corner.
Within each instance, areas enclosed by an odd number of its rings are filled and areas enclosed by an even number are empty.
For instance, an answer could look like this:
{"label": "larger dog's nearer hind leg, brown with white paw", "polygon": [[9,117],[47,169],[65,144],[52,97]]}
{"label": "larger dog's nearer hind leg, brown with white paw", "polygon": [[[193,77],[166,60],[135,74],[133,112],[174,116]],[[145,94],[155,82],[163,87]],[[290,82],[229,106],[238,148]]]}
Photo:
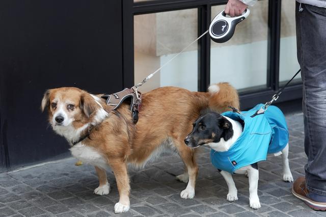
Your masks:
{"label": "larger dog's nearer hind leg, brown with white paw", "polygon": [[175,145],[179,151],[179,155],[182,158],[185,167],[187,168],[189,181],[187,187],[181,192],[180,197],[183,199],[192,199],[195,197],[195,185],[198,175],[198,166],[195,160],[195,151],[187,147],[183,140]]}

